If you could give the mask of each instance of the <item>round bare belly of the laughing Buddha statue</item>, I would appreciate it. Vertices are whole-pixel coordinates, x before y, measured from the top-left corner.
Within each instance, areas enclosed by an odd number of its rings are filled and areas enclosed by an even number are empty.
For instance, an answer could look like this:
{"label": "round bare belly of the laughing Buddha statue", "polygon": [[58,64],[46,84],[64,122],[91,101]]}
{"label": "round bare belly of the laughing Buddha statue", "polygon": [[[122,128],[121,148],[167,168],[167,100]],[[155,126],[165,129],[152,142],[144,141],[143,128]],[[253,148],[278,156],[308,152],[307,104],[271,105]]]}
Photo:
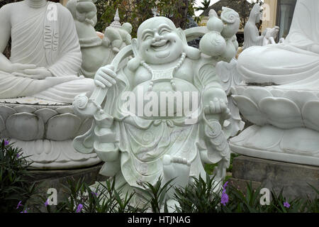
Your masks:
{"label": "round bare belly of the laughing Buddha statue", "polygon": [[130,113],[145,118],[172,118],[198,109],[201,99],[198,89],[184,79],[174,78],[174,83],[176,90],[170,80],[154,82],[150,90],[150,81],[138,84],[132,91],[135,109],[130,108]]}

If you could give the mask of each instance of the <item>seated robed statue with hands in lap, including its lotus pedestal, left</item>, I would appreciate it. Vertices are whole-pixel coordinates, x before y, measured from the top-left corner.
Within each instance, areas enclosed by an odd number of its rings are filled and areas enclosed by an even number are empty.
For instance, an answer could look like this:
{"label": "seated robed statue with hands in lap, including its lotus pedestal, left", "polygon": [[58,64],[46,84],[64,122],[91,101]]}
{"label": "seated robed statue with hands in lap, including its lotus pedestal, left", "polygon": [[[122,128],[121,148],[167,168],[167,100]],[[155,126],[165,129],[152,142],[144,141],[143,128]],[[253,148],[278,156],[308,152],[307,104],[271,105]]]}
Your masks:
{"label": "seated robed statue with hands in lap, including its lotus pedestal, left", "polygon": [[[35,168],[99,163],[72,147],[91,124],[74,115],[72,101],[95,86],[78,77],[82,54],[71,13],[51,1],[25,0],[1,7],[0,21],[0,138],[22,148]],[[2,52],[10,38],[7,59]]]}

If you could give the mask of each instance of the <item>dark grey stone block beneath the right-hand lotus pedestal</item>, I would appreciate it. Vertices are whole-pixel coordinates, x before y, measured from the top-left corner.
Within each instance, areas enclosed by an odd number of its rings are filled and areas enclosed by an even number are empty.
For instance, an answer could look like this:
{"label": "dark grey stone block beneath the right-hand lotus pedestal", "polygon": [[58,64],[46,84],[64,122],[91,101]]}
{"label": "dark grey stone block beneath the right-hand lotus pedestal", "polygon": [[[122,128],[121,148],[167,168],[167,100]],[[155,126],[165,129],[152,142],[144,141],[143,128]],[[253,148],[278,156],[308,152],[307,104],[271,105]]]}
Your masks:
{"label": "dark grey stone block beneath the right-hand lotus pedestal", "polygon": [[319,167],[242,155],[233,160],[233,178],[230,181],[240,189],[245,188],[245,182],[252,181],[253,188],[262,186],[274,189],[277,194],[283,188],[287,199],[307,196],[315,198],[317,193],[308,184],[319,189]]}

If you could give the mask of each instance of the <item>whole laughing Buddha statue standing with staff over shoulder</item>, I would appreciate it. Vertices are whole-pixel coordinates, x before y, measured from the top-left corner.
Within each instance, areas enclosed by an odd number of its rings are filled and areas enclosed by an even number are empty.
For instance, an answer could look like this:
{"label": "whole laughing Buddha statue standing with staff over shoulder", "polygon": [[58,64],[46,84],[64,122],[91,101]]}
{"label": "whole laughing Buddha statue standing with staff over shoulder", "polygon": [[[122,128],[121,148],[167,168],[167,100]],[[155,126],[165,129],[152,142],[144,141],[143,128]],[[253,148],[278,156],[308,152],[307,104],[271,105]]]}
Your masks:
{"label": "whole laughing Buddha statue standing with staff over shoulder", "polygon": [[[74,111],[95,120],[74,139],[74,148],[97,153],[105,162],[101,174],[116,176],[116,187],[131,192],[160,176],[163,183],[176,177],[172,184],[184,187],[191,177],[206,175],[203,163],[218,164],[216,183],[225,177],[230,150],[223,122],[230,111],[216,64],[235,56],[239,16],[228,8],[222,14],[225,25],[211,13],[208,24],[214,26],[200,44],[205,50],[187,45],[169,18],[144,21],[132,45],[98,70],[92,96],[74,99]],[[174,204],[172,190],[167,199]]]}

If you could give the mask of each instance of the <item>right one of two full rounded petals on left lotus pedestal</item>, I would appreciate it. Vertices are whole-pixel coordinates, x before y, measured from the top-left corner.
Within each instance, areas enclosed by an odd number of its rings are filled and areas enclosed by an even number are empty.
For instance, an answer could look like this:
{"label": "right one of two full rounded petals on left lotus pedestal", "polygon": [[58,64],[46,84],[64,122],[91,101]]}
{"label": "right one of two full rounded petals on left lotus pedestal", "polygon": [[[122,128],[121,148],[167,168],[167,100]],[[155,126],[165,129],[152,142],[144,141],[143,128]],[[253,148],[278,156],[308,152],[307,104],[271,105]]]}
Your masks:
{"label": "right one of two full rounded petals on left lotus pedestal", "polygon": [[47,121],[46,138],[49,140],[68,140],[77,135],[81,119],[74,114],[60,114]]}

